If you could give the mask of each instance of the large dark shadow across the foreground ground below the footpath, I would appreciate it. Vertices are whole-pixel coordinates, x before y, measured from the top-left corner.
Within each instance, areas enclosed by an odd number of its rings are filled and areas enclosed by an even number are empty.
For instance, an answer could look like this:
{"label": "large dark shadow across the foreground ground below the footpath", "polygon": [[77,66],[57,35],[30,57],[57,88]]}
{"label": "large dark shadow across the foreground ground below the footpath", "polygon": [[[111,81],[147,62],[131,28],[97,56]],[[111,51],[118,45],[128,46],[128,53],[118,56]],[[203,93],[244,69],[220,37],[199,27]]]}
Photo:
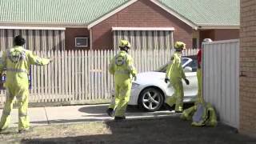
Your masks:
{"label": "large dark shadow across the foreground ground below the footpath", "polygon": [[86,144],[255,144],[256,139],[237,134],[234,128],[193,127],[178,116],[144,120],[109,121],[111,134],[95,134],[66,138],[38,138],[22,140],[30,143],[86,143]]}

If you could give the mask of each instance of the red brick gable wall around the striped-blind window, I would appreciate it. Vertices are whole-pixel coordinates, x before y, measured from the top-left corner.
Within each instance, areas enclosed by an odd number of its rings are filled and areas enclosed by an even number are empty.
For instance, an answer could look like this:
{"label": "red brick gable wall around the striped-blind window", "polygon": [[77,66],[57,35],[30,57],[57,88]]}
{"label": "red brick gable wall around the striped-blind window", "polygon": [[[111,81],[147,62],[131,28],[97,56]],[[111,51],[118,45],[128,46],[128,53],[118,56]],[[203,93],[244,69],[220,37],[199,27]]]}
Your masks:
{"label": "red brick gable wall around the striped-blind window", "polygon": [[192,28],[149,0],[139,0],[92,28],[94,49],[113,47],[112,26],[174,27],[174,41],[192,46]]}

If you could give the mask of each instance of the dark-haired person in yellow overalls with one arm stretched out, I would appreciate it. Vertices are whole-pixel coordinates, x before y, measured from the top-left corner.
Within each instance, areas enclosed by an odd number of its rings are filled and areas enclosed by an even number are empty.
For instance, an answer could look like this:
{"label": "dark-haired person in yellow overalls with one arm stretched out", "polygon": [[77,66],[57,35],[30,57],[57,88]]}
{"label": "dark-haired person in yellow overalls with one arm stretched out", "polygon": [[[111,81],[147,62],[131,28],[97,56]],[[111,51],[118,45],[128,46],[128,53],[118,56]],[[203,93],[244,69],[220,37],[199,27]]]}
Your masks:
{"label": "dark-haired person in yellow overalls with one arm stretched out", "polygon": [[21,35],[14,38],[14,47],[2,54],[0,73],[6,70],[6,103],[2,111],[0,131],[10,124],[10,111],[13,109],[14,98],[18,101],[18,132],[25,132],[30,128],[27,115],[29,102],[28,74],[30,65],[43,66],[51,62],[49,58],[39,58],[30,50],[23,48],[26,43]]}

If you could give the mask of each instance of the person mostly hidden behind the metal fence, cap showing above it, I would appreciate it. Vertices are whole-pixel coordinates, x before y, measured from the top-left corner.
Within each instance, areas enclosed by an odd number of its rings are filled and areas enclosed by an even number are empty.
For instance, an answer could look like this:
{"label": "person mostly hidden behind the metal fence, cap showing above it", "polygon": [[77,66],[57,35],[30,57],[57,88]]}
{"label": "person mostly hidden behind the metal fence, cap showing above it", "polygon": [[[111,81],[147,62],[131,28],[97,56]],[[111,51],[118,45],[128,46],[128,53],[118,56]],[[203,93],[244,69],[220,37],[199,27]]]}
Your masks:
{"label": "person mostly hidden behind the metal fence, cap showing above it", "polygon": [[[210,38],[205,38],[202,42],[212,42]],[[195,105],[198,103],[204,102],[202,98],[202,49],[198,51],[198,70],[197,70],[197,78],[198,78],[198,98],[195,102]]]}

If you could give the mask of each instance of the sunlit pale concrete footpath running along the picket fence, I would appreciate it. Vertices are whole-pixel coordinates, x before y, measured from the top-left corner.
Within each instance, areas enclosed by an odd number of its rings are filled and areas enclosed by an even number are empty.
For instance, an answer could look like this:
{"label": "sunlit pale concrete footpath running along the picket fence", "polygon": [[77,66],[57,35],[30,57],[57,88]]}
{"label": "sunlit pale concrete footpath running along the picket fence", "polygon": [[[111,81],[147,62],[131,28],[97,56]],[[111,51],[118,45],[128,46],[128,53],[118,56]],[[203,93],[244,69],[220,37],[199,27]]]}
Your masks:
{"label": "sunlit pale concrete footpath running along the picket fence", "polygon": [[[86,105],[86,106],[54,106],[54,107],[34,107],[29,108],[31,126],[49,125],[53,123],[75,123],[75,122],[96,122],[108,121],[110,118],[106,114],[108,105]],[[2,110],[0,110],[2,115]],[[146,113],[137,108],[129,107],[126,118],[154,118],[174,115],[174,112],[162,110]],[[11,127],[18,126],[18,109],[11,112]]]}

